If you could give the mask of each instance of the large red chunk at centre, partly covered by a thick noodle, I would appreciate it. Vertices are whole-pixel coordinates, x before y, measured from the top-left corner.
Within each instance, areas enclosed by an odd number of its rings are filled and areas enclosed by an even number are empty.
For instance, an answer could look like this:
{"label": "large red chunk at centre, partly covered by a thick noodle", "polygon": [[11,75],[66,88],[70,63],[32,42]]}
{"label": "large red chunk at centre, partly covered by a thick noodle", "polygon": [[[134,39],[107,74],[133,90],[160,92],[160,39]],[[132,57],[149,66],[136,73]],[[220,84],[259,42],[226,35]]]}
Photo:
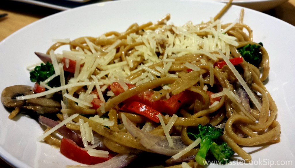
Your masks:
{"label": "large red chunk at centre, partly covered by a thick noodle", "polygon": [[[127,86],[129,88],[135,87],[135,85],[131,84],[127,84]],[[112,83],[111,90],[114,92],[115,95],[124,92],[124,89],[117,82]],[[160,113],[173,115],[181,106],[193,101],[193,99],[191,99],[192,96],[190,91],[184,91],[179,94],[173,95],[168,100],[160,99],[158,101],[155,101],[151,98],[152,95],[152,91],[146,90],[145,92],[130,97],[129,99],[124,101],[124,103],[136,101],[143,103]]]}

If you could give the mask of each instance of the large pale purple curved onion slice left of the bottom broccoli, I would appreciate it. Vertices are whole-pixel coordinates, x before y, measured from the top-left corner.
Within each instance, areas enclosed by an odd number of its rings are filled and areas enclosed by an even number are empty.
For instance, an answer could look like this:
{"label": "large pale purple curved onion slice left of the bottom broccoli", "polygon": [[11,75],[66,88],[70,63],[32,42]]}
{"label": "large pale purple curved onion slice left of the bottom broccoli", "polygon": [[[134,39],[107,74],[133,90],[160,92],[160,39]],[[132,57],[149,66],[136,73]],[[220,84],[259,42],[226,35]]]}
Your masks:
{"label": "large pale purple curved onion slice left of the bottom broccoli", "polygon": [[182,149],[186,148],[186,145],[182,142],[180,136],[172,136],[174,147],[170,147],[168,140],[165,136],[158,136],[146,133],[139,128],[137,128],[132,122],[127,119],[127,117],[122,114],[122,121],[126,129],[130,134],[137,140],[139,140],[142,146],[150,149],[151,151],[163,154],[167,156],[173,156],[180,152]]}

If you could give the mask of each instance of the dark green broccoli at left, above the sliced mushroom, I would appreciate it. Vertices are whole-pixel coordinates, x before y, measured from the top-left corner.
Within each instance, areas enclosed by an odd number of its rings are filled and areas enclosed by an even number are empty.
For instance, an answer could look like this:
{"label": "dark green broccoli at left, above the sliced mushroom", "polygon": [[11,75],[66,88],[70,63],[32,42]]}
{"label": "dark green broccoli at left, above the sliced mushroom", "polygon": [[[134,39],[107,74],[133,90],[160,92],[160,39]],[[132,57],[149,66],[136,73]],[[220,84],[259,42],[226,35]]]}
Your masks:
{"label": "dark green broccoli at left, above the sliced mushroom", "polygon": [[[34,70],[30,71],[30,80],[32,82],[45,81],[48,77],[55,74],[53,65],[47,62],[46,64],[41,63],[40,66],[36,66]],[[53,80],[47,83],[48,86],[60,86],[60,81],[55,77]]]}

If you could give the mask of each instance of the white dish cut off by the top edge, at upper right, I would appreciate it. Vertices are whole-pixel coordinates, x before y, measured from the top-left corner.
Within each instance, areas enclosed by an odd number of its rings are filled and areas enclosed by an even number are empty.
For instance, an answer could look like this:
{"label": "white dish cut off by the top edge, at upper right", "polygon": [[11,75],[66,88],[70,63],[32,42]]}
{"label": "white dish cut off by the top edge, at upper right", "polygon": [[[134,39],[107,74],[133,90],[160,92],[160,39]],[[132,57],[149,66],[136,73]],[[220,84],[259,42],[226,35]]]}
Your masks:
{"label": "white dish cut off by the top edge, at upper right", "polygon": [[[227,3],[229,0],[214,0]],[[267,11],[279,6],[289,0],[233,0],[232,4],[254,9],[257,11]]]}

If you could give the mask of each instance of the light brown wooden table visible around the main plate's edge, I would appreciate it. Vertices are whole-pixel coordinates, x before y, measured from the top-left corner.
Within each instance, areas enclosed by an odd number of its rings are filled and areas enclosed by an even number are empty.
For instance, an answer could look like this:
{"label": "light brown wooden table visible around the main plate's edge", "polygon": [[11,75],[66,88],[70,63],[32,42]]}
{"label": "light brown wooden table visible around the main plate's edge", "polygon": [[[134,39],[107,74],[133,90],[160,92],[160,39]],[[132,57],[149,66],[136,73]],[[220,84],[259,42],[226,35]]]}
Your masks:
{"label": "light brown wooden table visible around the main plate's edge", "polygon": [[[57,12],[59,11],[55,9],[23,4],[21,2],[1,0],[0,14],[7,13],[8,16],[0,19],[0,41],[22,27]],[[277,6],[274,9],[265,11],[264,13],[295,26],[295,0],[289,0],[288,2]],[[11,167],[0,159],[0,168]]]}

